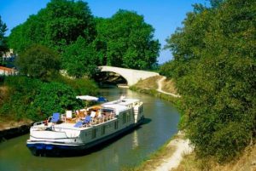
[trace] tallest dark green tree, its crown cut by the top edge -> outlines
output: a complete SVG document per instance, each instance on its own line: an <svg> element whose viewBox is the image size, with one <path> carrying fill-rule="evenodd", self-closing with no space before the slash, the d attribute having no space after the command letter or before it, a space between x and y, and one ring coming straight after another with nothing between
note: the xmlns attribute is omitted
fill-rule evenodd
<svg viewBox="0 0 256 171"><path fill-rule="evenodd" d="M84 37L88 43L95 38L95 23L87 3L83 1L52 0L45 9L47 19L46 38L49 45L63 50Z"/></svg>

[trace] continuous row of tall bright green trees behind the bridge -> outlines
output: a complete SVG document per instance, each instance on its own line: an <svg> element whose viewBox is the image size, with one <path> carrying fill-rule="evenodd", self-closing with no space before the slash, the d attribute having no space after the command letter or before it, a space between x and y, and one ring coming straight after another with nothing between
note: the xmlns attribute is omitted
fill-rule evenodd
<svg viewBox="0 0 256 171"><path fill-rule="evenodd" d="M160 51L142 15L119 10L108 19L94 18L87 3L71 0L51 0L9 35L19 54L33 44L59 52L62 69L73 77L94 76L102 65L151 69Z"/></svg>

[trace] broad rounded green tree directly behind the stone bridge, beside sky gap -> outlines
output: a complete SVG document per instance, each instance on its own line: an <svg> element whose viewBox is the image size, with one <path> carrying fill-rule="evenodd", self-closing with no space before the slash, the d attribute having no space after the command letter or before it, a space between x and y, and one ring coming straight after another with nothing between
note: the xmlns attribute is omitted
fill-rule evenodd
<svg viewBox="0 0 256 171"><path fill-rule="evenodd" d="M96 20L94 42L102 65L149 69L159 55L154 28L135 12L119 10L110 19Z"/></svg>

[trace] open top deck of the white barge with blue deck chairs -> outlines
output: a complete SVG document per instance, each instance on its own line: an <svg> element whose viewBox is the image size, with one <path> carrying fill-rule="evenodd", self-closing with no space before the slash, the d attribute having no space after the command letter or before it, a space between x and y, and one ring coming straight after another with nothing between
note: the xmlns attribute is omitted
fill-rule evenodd
<svg viewBox="0 0 256 171"><path fill-rule="evenodd" d="M127 111L137 105L142 105L142 102L140 100L126 98L122 100L114 100L103 103L102 105L93 105L86 109L66 111L66 114L61 114L56 123L52 123L52 118L49 117L44 122L34 123L33 127L35 129L38 128L38 130L44 130L44 128L71 128L79 130L91 128L102 123L116 120L120 112Z"/></svg>

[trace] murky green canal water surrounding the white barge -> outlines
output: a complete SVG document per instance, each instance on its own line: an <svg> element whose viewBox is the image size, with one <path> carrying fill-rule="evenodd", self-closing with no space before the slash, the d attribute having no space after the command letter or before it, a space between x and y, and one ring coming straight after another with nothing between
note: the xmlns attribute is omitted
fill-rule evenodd
<svg viewBox="0 0 256 171"><path fill-rule="evenodd" d="M0 171L119 171L147 160L177 133L179 114L171 103L125 88L101 91L108 100L121 94L143 100L143 125L82 157L34 157L26 148L28 134L7 140L0 144Z"/></svg>

